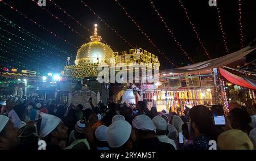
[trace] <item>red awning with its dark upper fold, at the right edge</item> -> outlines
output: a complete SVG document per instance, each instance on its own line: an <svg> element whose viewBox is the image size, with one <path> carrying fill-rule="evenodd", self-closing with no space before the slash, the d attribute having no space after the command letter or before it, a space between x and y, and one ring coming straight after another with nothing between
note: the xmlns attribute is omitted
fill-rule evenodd
<svg viewBox="0 0 256 161"><path fill-rule="evenodd" d="M230 73L229 71L220 67L221 75L226 78L229 82L237 84L238 86L249 88L251 90L256 90L256 81L245 76L238 76L236 74Z"/></svg>

